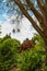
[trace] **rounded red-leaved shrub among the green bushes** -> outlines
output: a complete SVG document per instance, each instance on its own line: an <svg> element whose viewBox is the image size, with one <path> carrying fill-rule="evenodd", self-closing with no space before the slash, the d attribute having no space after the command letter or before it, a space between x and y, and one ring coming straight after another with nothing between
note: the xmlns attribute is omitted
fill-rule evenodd
<svg viewBox="0 0 47 71"><path fill-rule="evenodd" d="M27 39L27 40L25 40L25 42L21 45L20 51L26 50L26 49L33 48L33 47L34 47L33 42Z"/></svg>

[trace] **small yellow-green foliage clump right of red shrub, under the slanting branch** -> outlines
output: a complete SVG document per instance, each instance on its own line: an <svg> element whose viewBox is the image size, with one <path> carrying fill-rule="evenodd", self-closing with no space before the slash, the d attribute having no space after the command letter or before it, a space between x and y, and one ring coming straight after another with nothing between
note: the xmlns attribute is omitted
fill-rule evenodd
<svg viewBox="0 0 47 71"><path fill-rule="evenodd" d="M35 35L34 35L34 37L32 38L32 42L33 42L35 45L45 46L44 39L43 39L42 36L38 35L38 34L35 34Z"/></svg>

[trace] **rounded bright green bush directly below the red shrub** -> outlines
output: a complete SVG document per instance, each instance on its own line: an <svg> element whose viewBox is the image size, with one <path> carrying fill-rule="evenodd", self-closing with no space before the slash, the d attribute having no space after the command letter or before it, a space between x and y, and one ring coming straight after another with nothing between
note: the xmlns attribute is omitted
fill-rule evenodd
<svg viewBox="0 0 47 71"><path fill-rule="evenodd" d="M22 71L38 71L43 64L45 56L35 49L21 52L17 58L17 68Z"/></svg>

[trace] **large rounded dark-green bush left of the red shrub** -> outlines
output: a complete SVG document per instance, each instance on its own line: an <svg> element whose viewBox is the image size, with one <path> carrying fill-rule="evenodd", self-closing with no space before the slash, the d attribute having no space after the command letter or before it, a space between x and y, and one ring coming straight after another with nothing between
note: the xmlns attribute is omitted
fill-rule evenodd
<svg viewBox="0 0 47 71"><path fill-rule="evenodd" d="M8 71L12 66L16 66L20 42L8 38L0 44L0 71Z"/></svg>

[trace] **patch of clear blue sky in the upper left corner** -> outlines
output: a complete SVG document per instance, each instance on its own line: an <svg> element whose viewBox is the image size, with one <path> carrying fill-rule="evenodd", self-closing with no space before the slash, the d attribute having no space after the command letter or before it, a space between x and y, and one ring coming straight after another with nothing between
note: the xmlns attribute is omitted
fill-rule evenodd
<svg viewBox="0 0 47 71"><path fill-rule="evenodd" d="M34 2L36 0L32 0L32 1ZM5 2L5 0L3 0L3 2ZM0 2L0 22L1 23L5 22L7 21L5 16L8 16L9 14L11 15L12 13L13 13L13 11L10 10L10 8L5 7L4 3ZM32 12L30 12L30 14L32 14ZM5 15L5 16L3 16L3 15Z"/></svg>

